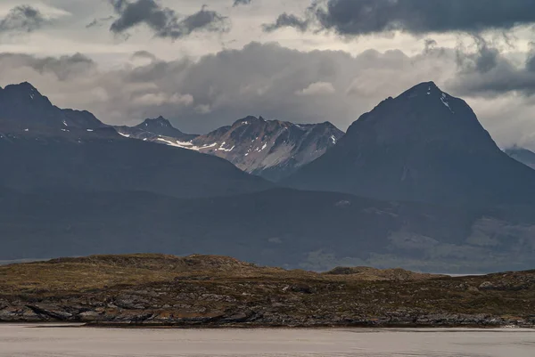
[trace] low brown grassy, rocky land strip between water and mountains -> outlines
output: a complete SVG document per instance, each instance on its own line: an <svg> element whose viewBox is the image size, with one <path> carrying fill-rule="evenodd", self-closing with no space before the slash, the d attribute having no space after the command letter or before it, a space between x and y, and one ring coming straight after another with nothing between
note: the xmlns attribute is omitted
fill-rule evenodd
<svg viewBox="0 0 535 357"><path fill-rule="evenodd" d="M93 258L0 267L0 322L535 328L535 271L460 278L402 271L337 275L260 268L231 258L187 259Z"/></svg>

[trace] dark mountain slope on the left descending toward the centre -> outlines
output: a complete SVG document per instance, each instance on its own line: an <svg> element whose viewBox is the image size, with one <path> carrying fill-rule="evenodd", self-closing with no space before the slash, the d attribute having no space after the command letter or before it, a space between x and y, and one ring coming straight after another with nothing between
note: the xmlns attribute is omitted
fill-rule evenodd
<svg viewBox="0 0 535 357"><path fill-rule="evenodd" d="M88 112L60 110L29 84L0 91L0 186L208 197L271 187L221 158L128 140Z"/></svg>

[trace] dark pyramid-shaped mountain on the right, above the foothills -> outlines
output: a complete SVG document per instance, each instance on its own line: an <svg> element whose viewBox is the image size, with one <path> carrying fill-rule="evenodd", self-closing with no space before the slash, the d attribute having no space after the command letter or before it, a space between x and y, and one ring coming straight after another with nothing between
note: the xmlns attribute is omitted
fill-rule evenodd
<svg viewBox="0 0 535 357"><path fill-rule="evenodd" d="M465 101L433 83L381 102L284 183L439 204L535 201L535 172L498 149Z"/></svg>

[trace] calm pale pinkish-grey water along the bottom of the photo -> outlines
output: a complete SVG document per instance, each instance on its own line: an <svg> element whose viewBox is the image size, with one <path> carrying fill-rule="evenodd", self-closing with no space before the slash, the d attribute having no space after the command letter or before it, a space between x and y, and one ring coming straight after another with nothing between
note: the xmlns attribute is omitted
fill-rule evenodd
<svg viewBox="0 0 535 357"><path fill-rule="evenodd" d="M525 329L86 329L0 325L0 356L533 357Z"/></svg>

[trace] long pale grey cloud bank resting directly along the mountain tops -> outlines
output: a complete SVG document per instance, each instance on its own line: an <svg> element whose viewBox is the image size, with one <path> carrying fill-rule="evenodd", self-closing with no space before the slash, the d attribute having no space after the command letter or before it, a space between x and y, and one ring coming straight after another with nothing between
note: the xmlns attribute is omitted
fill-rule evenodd
<svg viewBox="0 0 535 357"><path fill-rule="evenodd" d="M523 134L535 133L535 123L525 120L525 113L535 106L529 97L488 100L481 91L481 86L494 82L516 88L529 84L529 79L520 76L525 69L516 69L503 54L487 72L478 71L475 65L457 69L454 48L428 45L427 52L415 56L399 50L369 50L351 56L251 43L196 61L142 61L123 69L101 69L79 55L78 61L0 55L0 85L28 80L58 105L90 110L111 124L135 125L142 118L163 115L186 132L205 133L250 114L297 123L330 120L345 129L384 98L433 80L474 104L498 142L520 142ZM477 53L477 48L473 51ZM62 80L66 77L69 80ZM511 77L512 82L505 81Z"/></svg>

